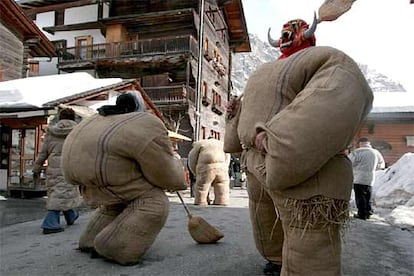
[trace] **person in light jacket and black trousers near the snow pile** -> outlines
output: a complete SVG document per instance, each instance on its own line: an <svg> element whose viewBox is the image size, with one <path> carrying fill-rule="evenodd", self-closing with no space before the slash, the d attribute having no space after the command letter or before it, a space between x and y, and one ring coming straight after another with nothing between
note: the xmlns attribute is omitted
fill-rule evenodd
<svg viewBox="0 0 414 276"><path fill-rule="evenodd" d="M354 194L358 219L369 219L372 210L372 185L375 182L375 171L384 169L385 162L381 152L371 146L367 137L359 139L359 147L348 157L352 162L354 174Z"/></svg>

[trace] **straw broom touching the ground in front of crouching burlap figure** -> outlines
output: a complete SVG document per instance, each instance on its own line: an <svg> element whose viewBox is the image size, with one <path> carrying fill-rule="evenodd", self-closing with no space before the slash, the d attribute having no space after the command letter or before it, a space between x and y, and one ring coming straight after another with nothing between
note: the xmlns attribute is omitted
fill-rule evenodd
<svg viewBox="0 0 414 276"><path fill-rule="evenodd" d="M194 216L185 204L181 194L176 192L184 206L188 216L188 232L197 243L215 243L224 237L224 234L205 221L203 218Z"/></svg>

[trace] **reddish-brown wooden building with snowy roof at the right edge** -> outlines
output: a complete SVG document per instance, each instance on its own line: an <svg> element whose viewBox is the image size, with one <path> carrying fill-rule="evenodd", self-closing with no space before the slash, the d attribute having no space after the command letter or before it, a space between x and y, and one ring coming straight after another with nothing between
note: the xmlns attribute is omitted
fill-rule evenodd
<svg viewBox="0 0 414 276"><path fill-rule="evenodd" d="M414 96L409 92L377 92L374 108L354 139L368 137L388 166L407 152L414 152ZM381 101L381 102L380 102Z"/></svg>

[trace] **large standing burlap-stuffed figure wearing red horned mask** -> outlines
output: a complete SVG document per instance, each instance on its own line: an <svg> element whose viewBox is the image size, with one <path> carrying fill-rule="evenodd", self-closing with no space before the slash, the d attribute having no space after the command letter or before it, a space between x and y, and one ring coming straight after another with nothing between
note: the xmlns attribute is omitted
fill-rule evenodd
<svg viewBox="0 0 414 276"><path fill-rule="evenodd" d="M350 57L314 46L314 30L298 19L279 40L269 36L281 58L259 67L242 100L227 107L224 150L242 152L267 275L341 275L340 231L352 189L344 149L373 95Z"/></svg>

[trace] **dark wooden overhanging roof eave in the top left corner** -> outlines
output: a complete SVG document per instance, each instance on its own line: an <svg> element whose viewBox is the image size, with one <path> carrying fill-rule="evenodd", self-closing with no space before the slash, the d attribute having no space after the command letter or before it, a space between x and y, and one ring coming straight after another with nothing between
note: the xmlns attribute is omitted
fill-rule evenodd
<svg viewBox="0 0 414 276"><path fill-rule="evenodd" d="M0 20L23 42L30 43L32 57L53 57L55 47L14 0L0 1Z"/></svg>

